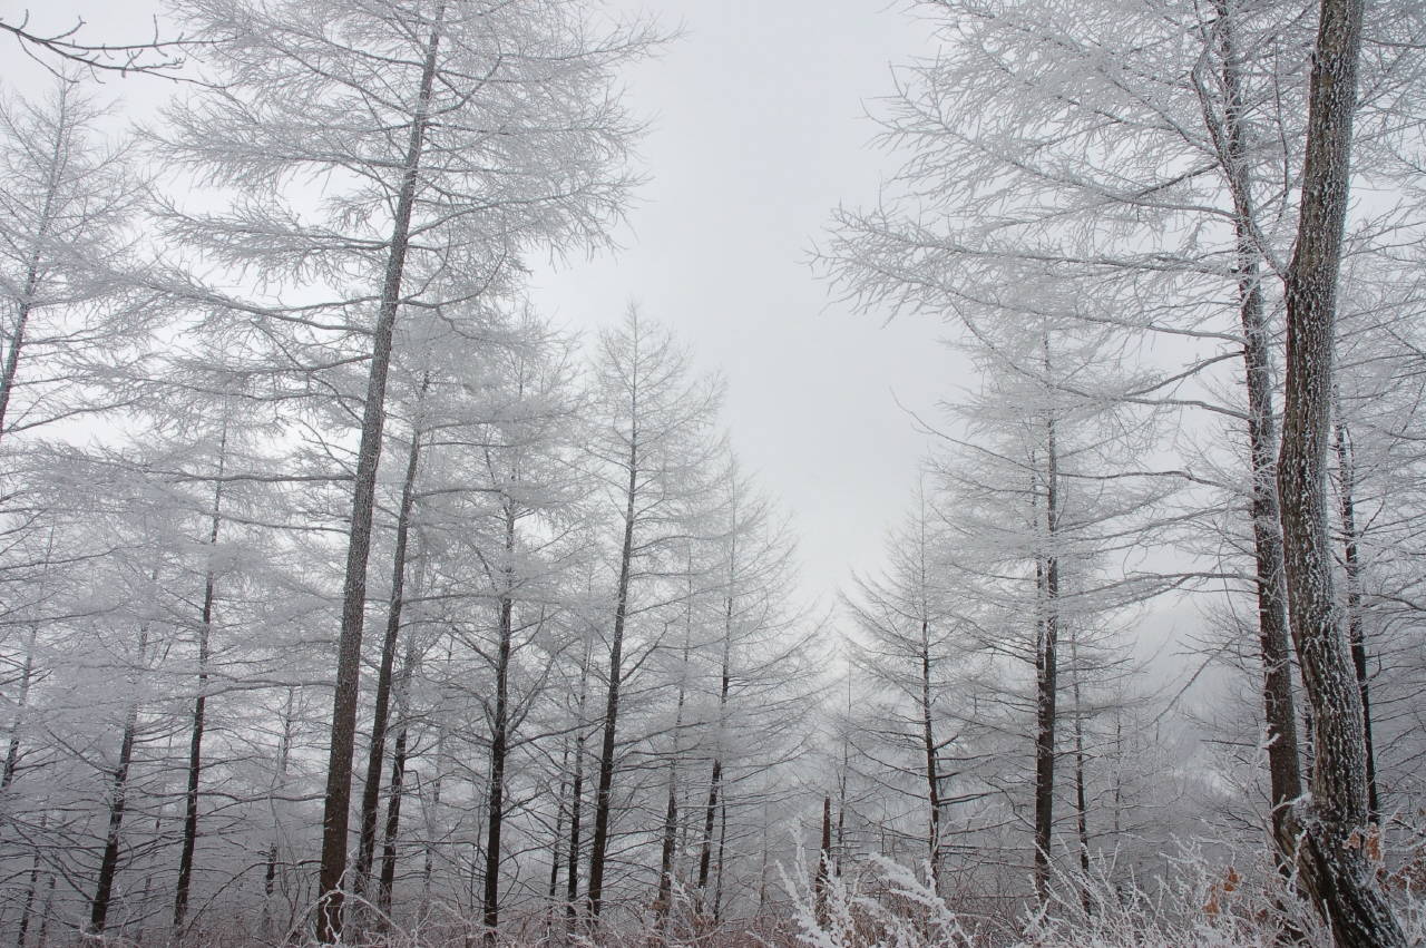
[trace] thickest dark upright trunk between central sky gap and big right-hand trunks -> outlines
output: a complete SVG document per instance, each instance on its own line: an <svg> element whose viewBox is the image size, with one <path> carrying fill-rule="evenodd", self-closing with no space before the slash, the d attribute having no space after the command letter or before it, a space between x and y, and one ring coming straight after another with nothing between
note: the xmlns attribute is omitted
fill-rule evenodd
<svg viewBox="0 0 1426 948"><path fill-rule="evenodd" d="M1045 369L1050 369L1050 339L1045 338ZM1045 542L1048 549L1035 565L1044 596L1040 620L1040 643L1035 650L1035 892L1040 901L1048 898L1050 845L1054 833L1055 805L1055 699L1058 696L1060 617L1060 560L1055 533L1060 519L1060 458L1055 445L1055 421L1045 425Z"/></svg>

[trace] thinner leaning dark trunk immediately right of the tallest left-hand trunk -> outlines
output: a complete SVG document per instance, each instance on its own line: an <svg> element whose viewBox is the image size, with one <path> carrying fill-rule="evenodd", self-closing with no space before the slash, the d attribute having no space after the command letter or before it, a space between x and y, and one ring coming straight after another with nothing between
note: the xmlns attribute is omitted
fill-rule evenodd
<svg viewBox="0 0 1426 948"><path fill-rule="evenodd" d="M425 395L431 376L421 383ZM411 510L416 499L416 469L421 463L421 422L411 431L411 450L406 453L406 478L401 485L401 509L396 513L396 549L391 567L391 600L386 606L386 637L381 643L381 666L376 671L376 709L371 724L371 748L366 754L366 783L361 794L361 835L356 845L355 887L362 891L371 875L376 854L376 810L381 803L381 766L386 758L386 720L391 713L391 676L396 664L396 642L401 636L401 610L406 592L406 542L411 535Z"/></svg>

